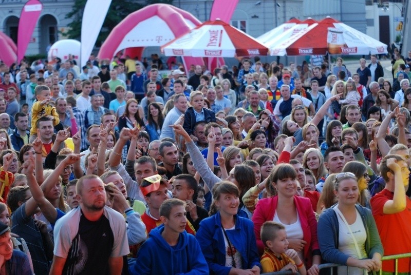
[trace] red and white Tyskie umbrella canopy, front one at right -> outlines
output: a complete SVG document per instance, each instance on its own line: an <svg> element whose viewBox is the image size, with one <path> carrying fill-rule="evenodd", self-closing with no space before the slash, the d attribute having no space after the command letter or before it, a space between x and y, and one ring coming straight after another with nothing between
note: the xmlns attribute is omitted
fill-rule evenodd
<svg viewBox="0 0 411 275"><path fill-rule="evenodd" d="M270 44L271 55L384 54L387 45L331 17L320 22L302 22L301 30L292 29ZM311 23L311 24L310 24ZM294 26L294 28L296 28Z"/></svg>

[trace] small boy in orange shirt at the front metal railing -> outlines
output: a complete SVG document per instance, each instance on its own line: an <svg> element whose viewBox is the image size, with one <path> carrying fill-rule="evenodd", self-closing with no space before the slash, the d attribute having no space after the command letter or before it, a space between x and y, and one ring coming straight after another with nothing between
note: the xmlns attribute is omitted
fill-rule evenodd
<svg viewBox="0 0 411 275"><path fill-rule="evenodd" d="M265 245L260 261L263 273L291 270L302 275L307 274L298 253L294 249L288 249L287 233L282 224L265 222L260 234Z"/></svg>

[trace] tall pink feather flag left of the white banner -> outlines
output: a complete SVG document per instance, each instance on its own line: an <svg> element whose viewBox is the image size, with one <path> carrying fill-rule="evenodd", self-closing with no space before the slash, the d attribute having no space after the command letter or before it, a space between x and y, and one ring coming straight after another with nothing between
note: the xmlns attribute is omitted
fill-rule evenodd
<svg viewBox="0 0 411 275"><path fill-rule="evenodd" d="M20 22L18 22L17 32L17 62L23 59L26 54L27 47L31 40L34 27L43 10L43 5L38 0L30 0L24 5L20 14Z"/></svg>

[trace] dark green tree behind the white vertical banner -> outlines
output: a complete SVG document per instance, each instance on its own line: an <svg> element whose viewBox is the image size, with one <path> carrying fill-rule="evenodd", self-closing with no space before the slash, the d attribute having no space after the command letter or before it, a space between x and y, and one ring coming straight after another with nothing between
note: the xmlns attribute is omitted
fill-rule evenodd
<svg viewBox="0 0 411 275"><path fill-rule="evenodd" d="M66 18L72 19L72 22L68 24L68 30L63 33L63 35L68 38L80 40L81 23L86 2L87 0L76 0L72 11L66 14ZM173 4L173 0L112 0L106 18L104 19L103 27L97 38L96 46L101 46L111 30L113 30L114 27L116 27L128 14L145 6L157 3ZM98 10L96 10L96 12L98 12Z"/></svg>

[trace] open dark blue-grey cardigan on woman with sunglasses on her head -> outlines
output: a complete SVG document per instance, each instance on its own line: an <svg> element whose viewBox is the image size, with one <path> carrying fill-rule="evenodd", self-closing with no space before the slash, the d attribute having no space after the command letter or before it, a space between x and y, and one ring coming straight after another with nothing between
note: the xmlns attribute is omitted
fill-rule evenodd
<svg viewBox="0 0 411 275"><path fill-rule="evenodd" d="M338 250L339 226L337 213L331 208L325 209L321 213L317 226L317 237L320 245L323 260L329 263L346 265L350 257ZM371 211L361 205L356 205L361 215L367 239L365 240L365 251L367 256L372 258L374 253L380 253L383 256L384 250L381 244L380 235L378 234L376 222L372 217Z"/></svg>

